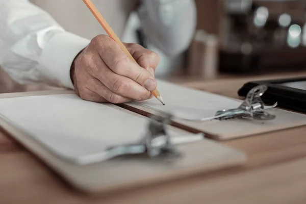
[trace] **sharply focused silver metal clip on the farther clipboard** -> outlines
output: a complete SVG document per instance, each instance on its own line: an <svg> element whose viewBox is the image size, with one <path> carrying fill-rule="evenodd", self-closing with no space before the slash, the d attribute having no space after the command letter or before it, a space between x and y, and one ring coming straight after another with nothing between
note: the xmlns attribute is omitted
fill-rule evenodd
<svg viewBox="0 0 306 204"><path fill-rule="evenodd" d="M266 92L268 87L260 85L252 88L246 95L243 103L236 109L228 109L217 111L216 116L219 120L227 120L233 118L252 118L255 120L272 120L276 116L265 110L277 106L277 102L273 106L265 106L261 96Z"/></svg>

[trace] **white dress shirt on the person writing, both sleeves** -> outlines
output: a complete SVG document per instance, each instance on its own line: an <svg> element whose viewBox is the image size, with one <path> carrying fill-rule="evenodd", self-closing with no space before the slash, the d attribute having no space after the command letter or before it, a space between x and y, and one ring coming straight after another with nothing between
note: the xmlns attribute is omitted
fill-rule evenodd
<svg viewBox="0 0 306 204"><path fill-rule="evenodd" d="M148 39L169 55L183 52L196 24L193 0L144 0L143 5L140 15ZM154 15L156 12L159 15ZM0 65L20 84L45 83L73 89L71 63L89 42L65 31L28 0L0 0Z"/></svg>

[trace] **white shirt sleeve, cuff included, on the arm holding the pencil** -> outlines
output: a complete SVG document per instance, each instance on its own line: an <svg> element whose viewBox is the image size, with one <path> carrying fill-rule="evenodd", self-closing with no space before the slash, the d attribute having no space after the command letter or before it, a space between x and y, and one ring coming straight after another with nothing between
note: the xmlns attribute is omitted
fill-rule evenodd
<svg viewBox="0 0 306 204"><path fill-rule="evenodd" d="M21 84L73 89L71 63L89 42L28 0L0 0L0 65Z"/></svg>

